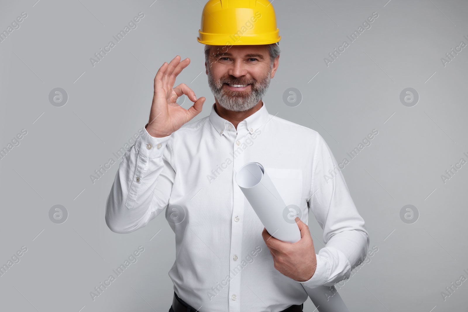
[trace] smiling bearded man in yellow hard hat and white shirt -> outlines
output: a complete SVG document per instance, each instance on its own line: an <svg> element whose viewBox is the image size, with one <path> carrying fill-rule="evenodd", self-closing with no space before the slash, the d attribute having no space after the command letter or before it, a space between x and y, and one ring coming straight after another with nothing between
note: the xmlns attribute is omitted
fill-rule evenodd
<svg viewBox="0 0 468 312"><path fill-rule="evenodd" d="M323 138L267 112L262 97L278 69L280 37L270 3L250 1L257 4L253 11L239 10L245 2L210 0L205 6L198 38L205 44L215 42L204 40L215 31L233 33L213 21L210 28L208 15L222 18L223 27L255 11L263 18L229 47L205 46L215 97L210 115L186 124L202 111L205 97L185 84L174 87L189 58L164 62L154 78L146 130L125 153L106 203L106 223L117 233L133 232L166 210L176 236L169 312L302 311L304 287L348 278L369 246L341 172L331 181L323 178L337 166ZM194 102L189 109L176 103L183 94ZM251 161L265 167L286 205L298 207L292 214L298 215L298 242L272 237L236 184L237 171ZM324 230L326 246L318 254L309 211Z"/></svg>

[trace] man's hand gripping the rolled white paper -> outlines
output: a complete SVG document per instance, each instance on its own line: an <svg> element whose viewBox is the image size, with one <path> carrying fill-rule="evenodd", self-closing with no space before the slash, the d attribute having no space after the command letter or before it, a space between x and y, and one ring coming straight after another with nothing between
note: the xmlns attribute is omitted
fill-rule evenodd
<svg viewBox="0 0 468 312"><path fill-rule="evenodd" d="M295 218L300 230L300 240L287 243L274 238L263 228L262 237L273 256L275 268L296 281L308 281L315 273L317 258L309 227L299 217Z"/></svg>

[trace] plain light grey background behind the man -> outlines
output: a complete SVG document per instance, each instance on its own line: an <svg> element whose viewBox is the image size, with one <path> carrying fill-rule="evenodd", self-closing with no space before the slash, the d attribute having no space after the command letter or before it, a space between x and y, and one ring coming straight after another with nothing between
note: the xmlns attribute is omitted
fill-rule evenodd
<svg viewBox="0 0 468 312"><path fill-rule="evenodd" d="M176 85L207 98L197 118L210 113L214 99L196 40L205 1L36 1L0 2L0 30L28 14L0 43L0 147L28 131L0 160L0 264L28 248L0 277L1 310L168 311L175 241L167 221L111 232L105 203L120 160L94 184L89 176L146 124L154 75L177 54L191 63ZM445 301L441 292L468 277L468 165L445 184L441 174L468 160L468 47L445 67L440 58L468 44L467 1L273 5L282 53L264 98L268 111L318 131L338 162L379 131L342 171L370 248L379 248L339 290L350 311L466 309L468 282ZM138 28L93 67L89 58L140 11ZM328 53L373 12L379 17L371 29L327 67ZM56 87L68 94L63 107L48 100ZM302 94L297 107L282 101L289 87ZM407 87L419 94L416 106L399 100ZM49 219L57 204L68 211L65 223ZM407 204L419 211L416 223L400 218ZM322 231L312 214L309 226L318 250ZM93 301L90 291L139 246L138 261ZM304 311L313 310L308 299Z"/></svg>

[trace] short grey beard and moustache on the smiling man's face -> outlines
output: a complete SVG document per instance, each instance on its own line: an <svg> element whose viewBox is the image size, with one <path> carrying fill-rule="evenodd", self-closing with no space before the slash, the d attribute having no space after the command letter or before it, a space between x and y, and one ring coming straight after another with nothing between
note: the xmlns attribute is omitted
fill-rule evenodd
<svg viewBox="0 0 468 312"><path fill-rule="evenodd" d="M222 108L236 112L246 111L255 107L255 105L260 102L260 100L263 98L263 95L265 95L266 91L268 90L268 87L270 86L270 73L272 67L273 66L270 66L270 72L268 72L267 75L259 82L256 80L230 80L229 78L221 78L220 80L215 81L210 72L210 68L207 67L208 85L210 86L212 94L216 100L218 100L218 103ZM225 82L239 85L252 83L250 86L251 91L246 93L246 91L227 90L224 87Z"/></svg>

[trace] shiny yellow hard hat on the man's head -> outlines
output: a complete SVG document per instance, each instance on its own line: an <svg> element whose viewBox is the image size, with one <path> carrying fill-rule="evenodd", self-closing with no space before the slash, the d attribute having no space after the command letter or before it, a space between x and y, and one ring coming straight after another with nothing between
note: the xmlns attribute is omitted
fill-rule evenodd
<svg viewBox="0 0 468 312"><path fill-rule="evenodd" d="M274 44L281 36L268 0L209 0L197 41L210 45Z"/></svg>

